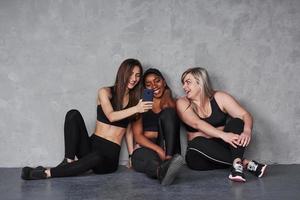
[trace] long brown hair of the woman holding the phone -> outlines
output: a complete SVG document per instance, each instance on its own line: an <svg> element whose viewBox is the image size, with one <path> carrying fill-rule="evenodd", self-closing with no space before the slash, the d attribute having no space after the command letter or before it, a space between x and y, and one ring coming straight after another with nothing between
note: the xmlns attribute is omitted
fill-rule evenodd
<svg viewBox="0 0 300 200"><path fill-rule="evenodd" d="M122 110L123 109L123 98L125 96L125 92L127 89L127 85L129 82L129 78L131 76L132 70L134 67L140 68L141 75L143 74L143 68L137 59L129 58L124 60L117 72L116 81L113 86L113 94L112 94L112 103L114 110ZM129 102L127 107L134 106L138 103L141 97L141 81L129 90Z"/></svg>

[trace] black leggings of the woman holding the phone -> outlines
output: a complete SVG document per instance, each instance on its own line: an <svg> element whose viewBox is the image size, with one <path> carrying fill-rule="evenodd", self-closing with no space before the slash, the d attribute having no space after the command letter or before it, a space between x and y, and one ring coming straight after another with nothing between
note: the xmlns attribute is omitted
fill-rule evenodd
<svg viewBox="0 0 300 200"><path fill-rule="evenodd" d="M78 110L70 110L65 118L65 157L77 161L50 169L51 177L75 176L90 169L96 174L112 173L119 164L120 145L95 134L88 136Z"/></svg>

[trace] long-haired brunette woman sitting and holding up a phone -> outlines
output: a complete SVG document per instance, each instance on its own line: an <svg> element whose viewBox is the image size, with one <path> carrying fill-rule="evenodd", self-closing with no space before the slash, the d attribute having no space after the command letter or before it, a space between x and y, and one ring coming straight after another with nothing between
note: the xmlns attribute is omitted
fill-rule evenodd
<svg viewBox="0 0 300 200"><path fill-rule="evenodd" d="M123 61L114 86L101 88L98 92L95 133L89 137L80 112L70 110L64 125L63 162L50 169L24 167L21 177L34 180L75 176L88 170L96 174L115 172L119 163L120 144L130 117L152 107L152 102L139 101L141 74L142 66L138 60Z"/></svg>

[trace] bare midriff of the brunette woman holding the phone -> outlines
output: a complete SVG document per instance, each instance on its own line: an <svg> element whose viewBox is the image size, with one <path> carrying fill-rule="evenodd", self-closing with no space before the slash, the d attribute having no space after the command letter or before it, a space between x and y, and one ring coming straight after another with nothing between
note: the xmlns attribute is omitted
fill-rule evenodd
<svg viewBox="0 0 300 200"><path fill-rule="evenodd" d="M97 120L95 135L121 145L126 128L102 123Z"/></svg>

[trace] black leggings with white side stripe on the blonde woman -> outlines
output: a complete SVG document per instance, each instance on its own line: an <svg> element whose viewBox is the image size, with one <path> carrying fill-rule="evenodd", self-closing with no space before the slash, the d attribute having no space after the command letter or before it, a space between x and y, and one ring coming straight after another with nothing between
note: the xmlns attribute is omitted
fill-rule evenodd
<svg viewBox="0 0 300 200"><path fill-rule="evenodd" d="M244 122L239 118L231 119L224 127L224 132L241 134ZM194 170L212 170L228 168L236 158L243 158L245 147L232 147L222 139L196 137L189 141L186 152L187 166Z"/></svg>

